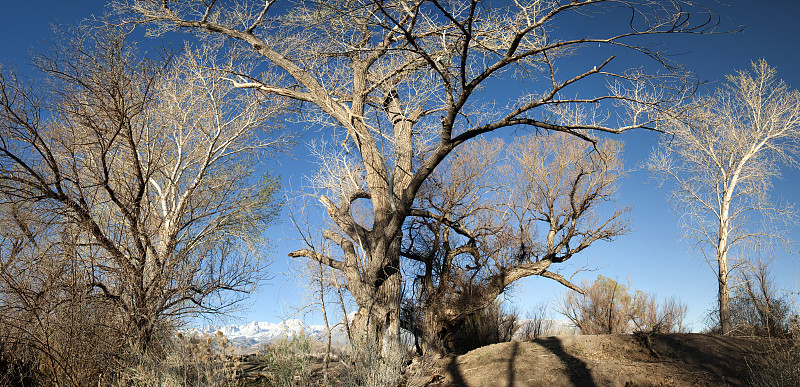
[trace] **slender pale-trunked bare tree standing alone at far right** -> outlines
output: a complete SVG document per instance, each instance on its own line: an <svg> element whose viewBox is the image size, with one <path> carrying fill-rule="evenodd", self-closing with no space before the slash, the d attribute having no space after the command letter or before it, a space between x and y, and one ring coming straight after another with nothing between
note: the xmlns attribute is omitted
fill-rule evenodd
<svg viewBox="0 0 800 387"><path fill-rule="evenodd" d="M768 200L771 180L800 154L800 93L775 78L766 61L752 72L728 76L728 84L696 101L694 118L672 121L648 167L673 182L671 200L682 213L684 234L714 270L723 334L731 324L731 263L745 260L737 247L753 238L779 236L753 226L792 217L791 207ZM758 219L757 217L761 217Z"/></svg>

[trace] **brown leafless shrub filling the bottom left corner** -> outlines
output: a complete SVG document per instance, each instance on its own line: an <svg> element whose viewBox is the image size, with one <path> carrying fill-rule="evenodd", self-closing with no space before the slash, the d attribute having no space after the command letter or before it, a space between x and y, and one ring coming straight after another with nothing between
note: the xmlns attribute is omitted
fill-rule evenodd
<svg viewBox="0 0 800 387"><path fill-rule="evenodd" d="M124 348L113 309L73 290L42 291L43 306L0 291L0 385L98 385L113 371Z"/></svg>

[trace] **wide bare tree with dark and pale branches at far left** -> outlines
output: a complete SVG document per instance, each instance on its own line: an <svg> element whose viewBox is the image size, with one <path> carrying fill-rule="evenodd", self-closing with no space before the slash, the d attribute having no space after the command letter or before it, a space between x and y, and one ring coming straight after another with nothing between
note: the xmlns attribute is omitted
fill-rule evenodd
<svg viewBox="0 0 800 387"><path fill-rule="evenodd" d="M279 184L257 161L286 144L267 125L284 105L208 70L225 66L213 47L147 59L93 28L57 47L36 59L44 90L0 77L3 205L71 232L77 247L59 259L148 350L260 280Z"/></svg>

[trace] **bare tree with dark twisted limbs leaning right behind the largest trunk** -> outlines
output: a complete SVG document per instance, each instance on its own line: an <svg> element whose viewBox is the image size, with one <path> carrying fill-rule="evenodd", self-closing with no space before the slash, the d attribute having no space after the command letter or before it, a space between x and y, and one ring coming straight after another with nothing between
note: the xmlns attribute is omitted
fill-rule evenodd
<svg viewBox="0 0 800 387"><path fill-rule="evenodd" d="M627 209L599 210L624 174L621 150L564 133L510 145L478 140L437 168L420 189L401 251L426 349L451 350L453 329L521 278L541 276L583 293L552 265L628 231Z"/></svg>

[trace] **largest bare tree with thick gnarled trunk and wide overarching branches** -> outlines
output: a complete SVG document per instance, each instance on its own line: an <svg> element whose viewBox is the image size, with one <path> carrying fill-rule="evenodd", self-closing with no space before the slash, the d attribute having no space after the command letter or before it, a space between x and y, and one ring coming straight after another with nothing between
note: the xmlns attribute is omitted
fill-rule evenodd
<svg viewBox="0 0 800 387"><path fill-rule="evenodd" d="M671 106L686 90L686 78L637 38L703 33L715 25L712 18L692 23L680 1L274 4L119 0L114 7L122 23L147 23L152 32L199 30L230 38L231 47L260 60L259 71L273 74L240 71L236 86L302 101L301 119L330 128L326 135L337 145L324 155L330 162L325 164L341 168L319 179L326 184L319 200L334 223L323 234L341 253L299 249L291 255L344 272L361 308L357 321L394 346L400 342L402 230L437 165L461 144L502 128L540 128L588 140L592 131L655 126L645 107ZM613 15L617 11L626 17ZM559 28L608 14L624 30L571 36ZM570 59L585 61L575 72L558 71L558 60L597 45L643 53L664 65L667 76L615 69L610 51L599 60ZM532 82L508 96L494 81L514 76ZM581 95L577 85L592 78L609 81L612 92ZM497 91L503 94L499 101L493 97ZM606 121L609 115L600 109L614 102L632 107L632 119L619 126ZM353 216L359 207L370 214L366 223Z"/></svg>

